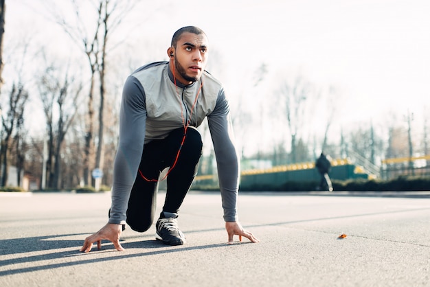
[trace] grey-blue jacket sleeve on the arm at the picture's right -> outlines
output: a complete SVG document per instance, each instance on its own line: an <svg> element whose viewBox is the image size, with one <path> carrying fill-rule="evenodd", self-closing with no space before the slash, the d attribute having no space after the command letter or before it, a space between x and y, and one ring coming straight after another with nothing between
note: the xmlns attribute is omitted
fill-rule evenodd
<svg viewBox="0 0 430 287"><path fill-rule="evenodd" d="M214 111L207 116L218 169L224 220L237 221L236 211L240 163L234 146L234 135L229 117L229 103L224 90L218 93Z"/></svg>

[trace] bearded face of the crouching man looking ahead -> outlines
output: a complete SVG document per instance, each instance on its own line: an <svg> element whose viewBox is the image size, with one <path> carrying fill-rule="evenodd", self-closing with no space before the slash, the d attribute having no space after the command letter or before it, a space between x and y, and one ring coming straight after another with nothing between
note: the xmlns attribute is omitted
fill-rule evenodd
<svg viewBox="0 0 430 287"><path fill-rule="evenodd" d="M182 84L191 84L201 77L207 62L207 38L205 34L186 32L181 35L174 50L174 65L177 79Z"/></svg>

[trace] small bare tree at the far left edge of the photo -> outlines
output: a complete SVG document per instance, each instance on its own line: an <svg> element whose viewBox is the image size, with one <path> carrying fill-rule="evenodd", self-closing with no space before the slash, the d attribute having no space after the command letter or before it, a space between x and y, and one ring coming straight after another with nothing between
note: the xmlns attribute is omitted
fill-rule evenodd
<svg viewBox="0 0 430 287"><path fill-rule="evenodd" d="M28 92L24 89L23 84L13 84L8 98L8 111L1 114L3 126L3 137L1 138L1 163L3 172L1 176L1 185L8 182L9 154L12 146L13 133L17 127L23 125L24 108L28 100Z"/></svg>

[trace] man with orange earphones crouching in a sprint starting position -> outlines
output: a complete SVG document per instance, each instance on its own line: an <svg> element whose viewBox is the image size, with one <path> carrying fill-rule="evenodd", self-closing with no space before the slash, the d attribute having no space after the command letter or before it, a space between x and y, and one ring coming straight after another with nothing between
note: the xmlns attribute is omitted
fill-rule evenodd
<svg viewBox="0 0 430 287"><path fill-rule="evenodd" d="M168 62L141 67L124 84L109 222L85 238L80 251L91 251L94 242L100 249L101 240L124 250L120 236L125 223L135 231L148 230L154 220L159 176L165 168L166 200L157 220L157 236L166 244L185 243L177 217L196 175L203 146L196 127L205 117L216 154L228 240L232 242L238 235L259 241L238 222L240 165L223 86L205 71L205 32L182 27L174 33L167 54Z"/></svg>

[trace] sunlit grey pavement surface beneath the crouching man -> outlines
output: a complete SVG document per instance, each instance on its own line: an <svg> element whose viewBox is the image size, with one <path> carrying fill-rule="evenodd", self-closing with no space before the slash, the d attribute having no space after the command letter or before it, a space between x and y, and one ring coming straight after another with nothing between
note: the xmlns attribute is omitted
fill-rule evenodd
<svg viewBox="0 0 430 287"><path fill-rule="evenodd" d="M190 192L185 245L128 227L126 251L80 253L109 192L3 193L0 286L430 286L430 197L347 195L240 193L240 222L261 242L226 244L220 194Z"/></svg>

